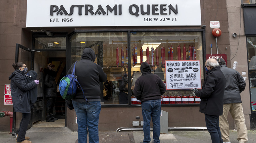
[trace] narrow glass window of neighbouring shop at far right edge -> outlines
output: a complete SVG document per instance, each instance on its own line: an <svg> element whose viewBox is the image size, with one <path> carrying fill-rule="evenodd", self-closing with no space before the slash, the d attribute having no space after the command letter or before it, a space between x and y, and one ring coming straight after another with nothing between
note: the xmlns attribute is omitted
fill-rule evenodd
<svg viewBox="0 0 256 143"><path fill-rule="evenodd" d="M247 37L252 111L256 111L256 37Z"/></svg>

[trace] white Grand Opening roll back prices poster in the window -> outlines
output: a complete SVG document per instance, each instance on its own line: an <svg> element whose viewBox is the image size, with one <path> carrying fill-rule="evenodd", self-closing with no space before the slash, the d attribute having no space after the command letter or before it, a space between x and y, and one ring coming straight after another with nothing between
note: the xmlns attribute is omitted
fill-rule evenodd
<svg viewBox="0 0 256 143"><path fill-rule="evenodd" d="M200 60L165 61L166 89L201 89Z"/></svg>

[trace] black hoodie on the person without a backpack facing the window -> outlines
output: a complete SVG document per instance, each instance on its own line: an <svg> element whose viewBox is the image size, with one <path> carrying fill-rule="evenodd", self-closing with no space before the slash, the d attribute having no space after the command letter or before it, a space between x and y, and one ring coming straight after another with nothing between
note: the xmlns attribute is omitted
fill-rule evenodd
<svg viewBox="0 0 256 143"><path fill-rule="evenodd" d="M161 99L166 87L161 78L151 73L150 65L143 62L140 66L142 75L136 80L134 87L134 96L142 102L148 100Z"/></svg>

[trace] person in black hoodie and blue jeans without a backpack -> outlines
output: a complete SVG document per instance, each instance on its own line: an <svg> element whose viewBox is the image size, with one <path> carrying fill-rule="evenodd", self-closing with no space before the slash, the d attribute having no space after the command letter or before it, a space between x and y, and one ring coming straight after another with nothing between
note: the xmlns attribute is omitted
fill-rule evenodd
<svg viewBox="0 0 256 143"><path fill-rule="evenodd" d="M142 117L143 117L143 133L144 139L140 143L150 142L150 121L153 122L153 141L152 143L160 143L160 113L161 113L161 95L165 92L166 87L162 79L151 73L151 67L147 62L143 62L140 66L142 73L137 78L134 87L134 96L141 101Z"/></svg>

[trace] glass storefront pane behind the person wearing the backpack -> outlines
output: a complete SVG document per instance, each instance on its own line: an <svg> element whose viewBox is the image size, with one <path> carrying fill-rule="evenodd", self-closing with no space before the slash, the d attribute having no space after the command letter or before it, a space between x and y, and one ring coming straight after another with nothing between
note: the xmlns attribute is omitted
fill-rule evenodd
<svg viewBox="0 0 256 143"><path fill-rule="evenodd" d="M75 33L71 47L71 63L81 59L84 48L95 51L94 62L107 74L107 81L103 83L107 95L102 95L101 103L128 104L127 33Z"/></svg>

